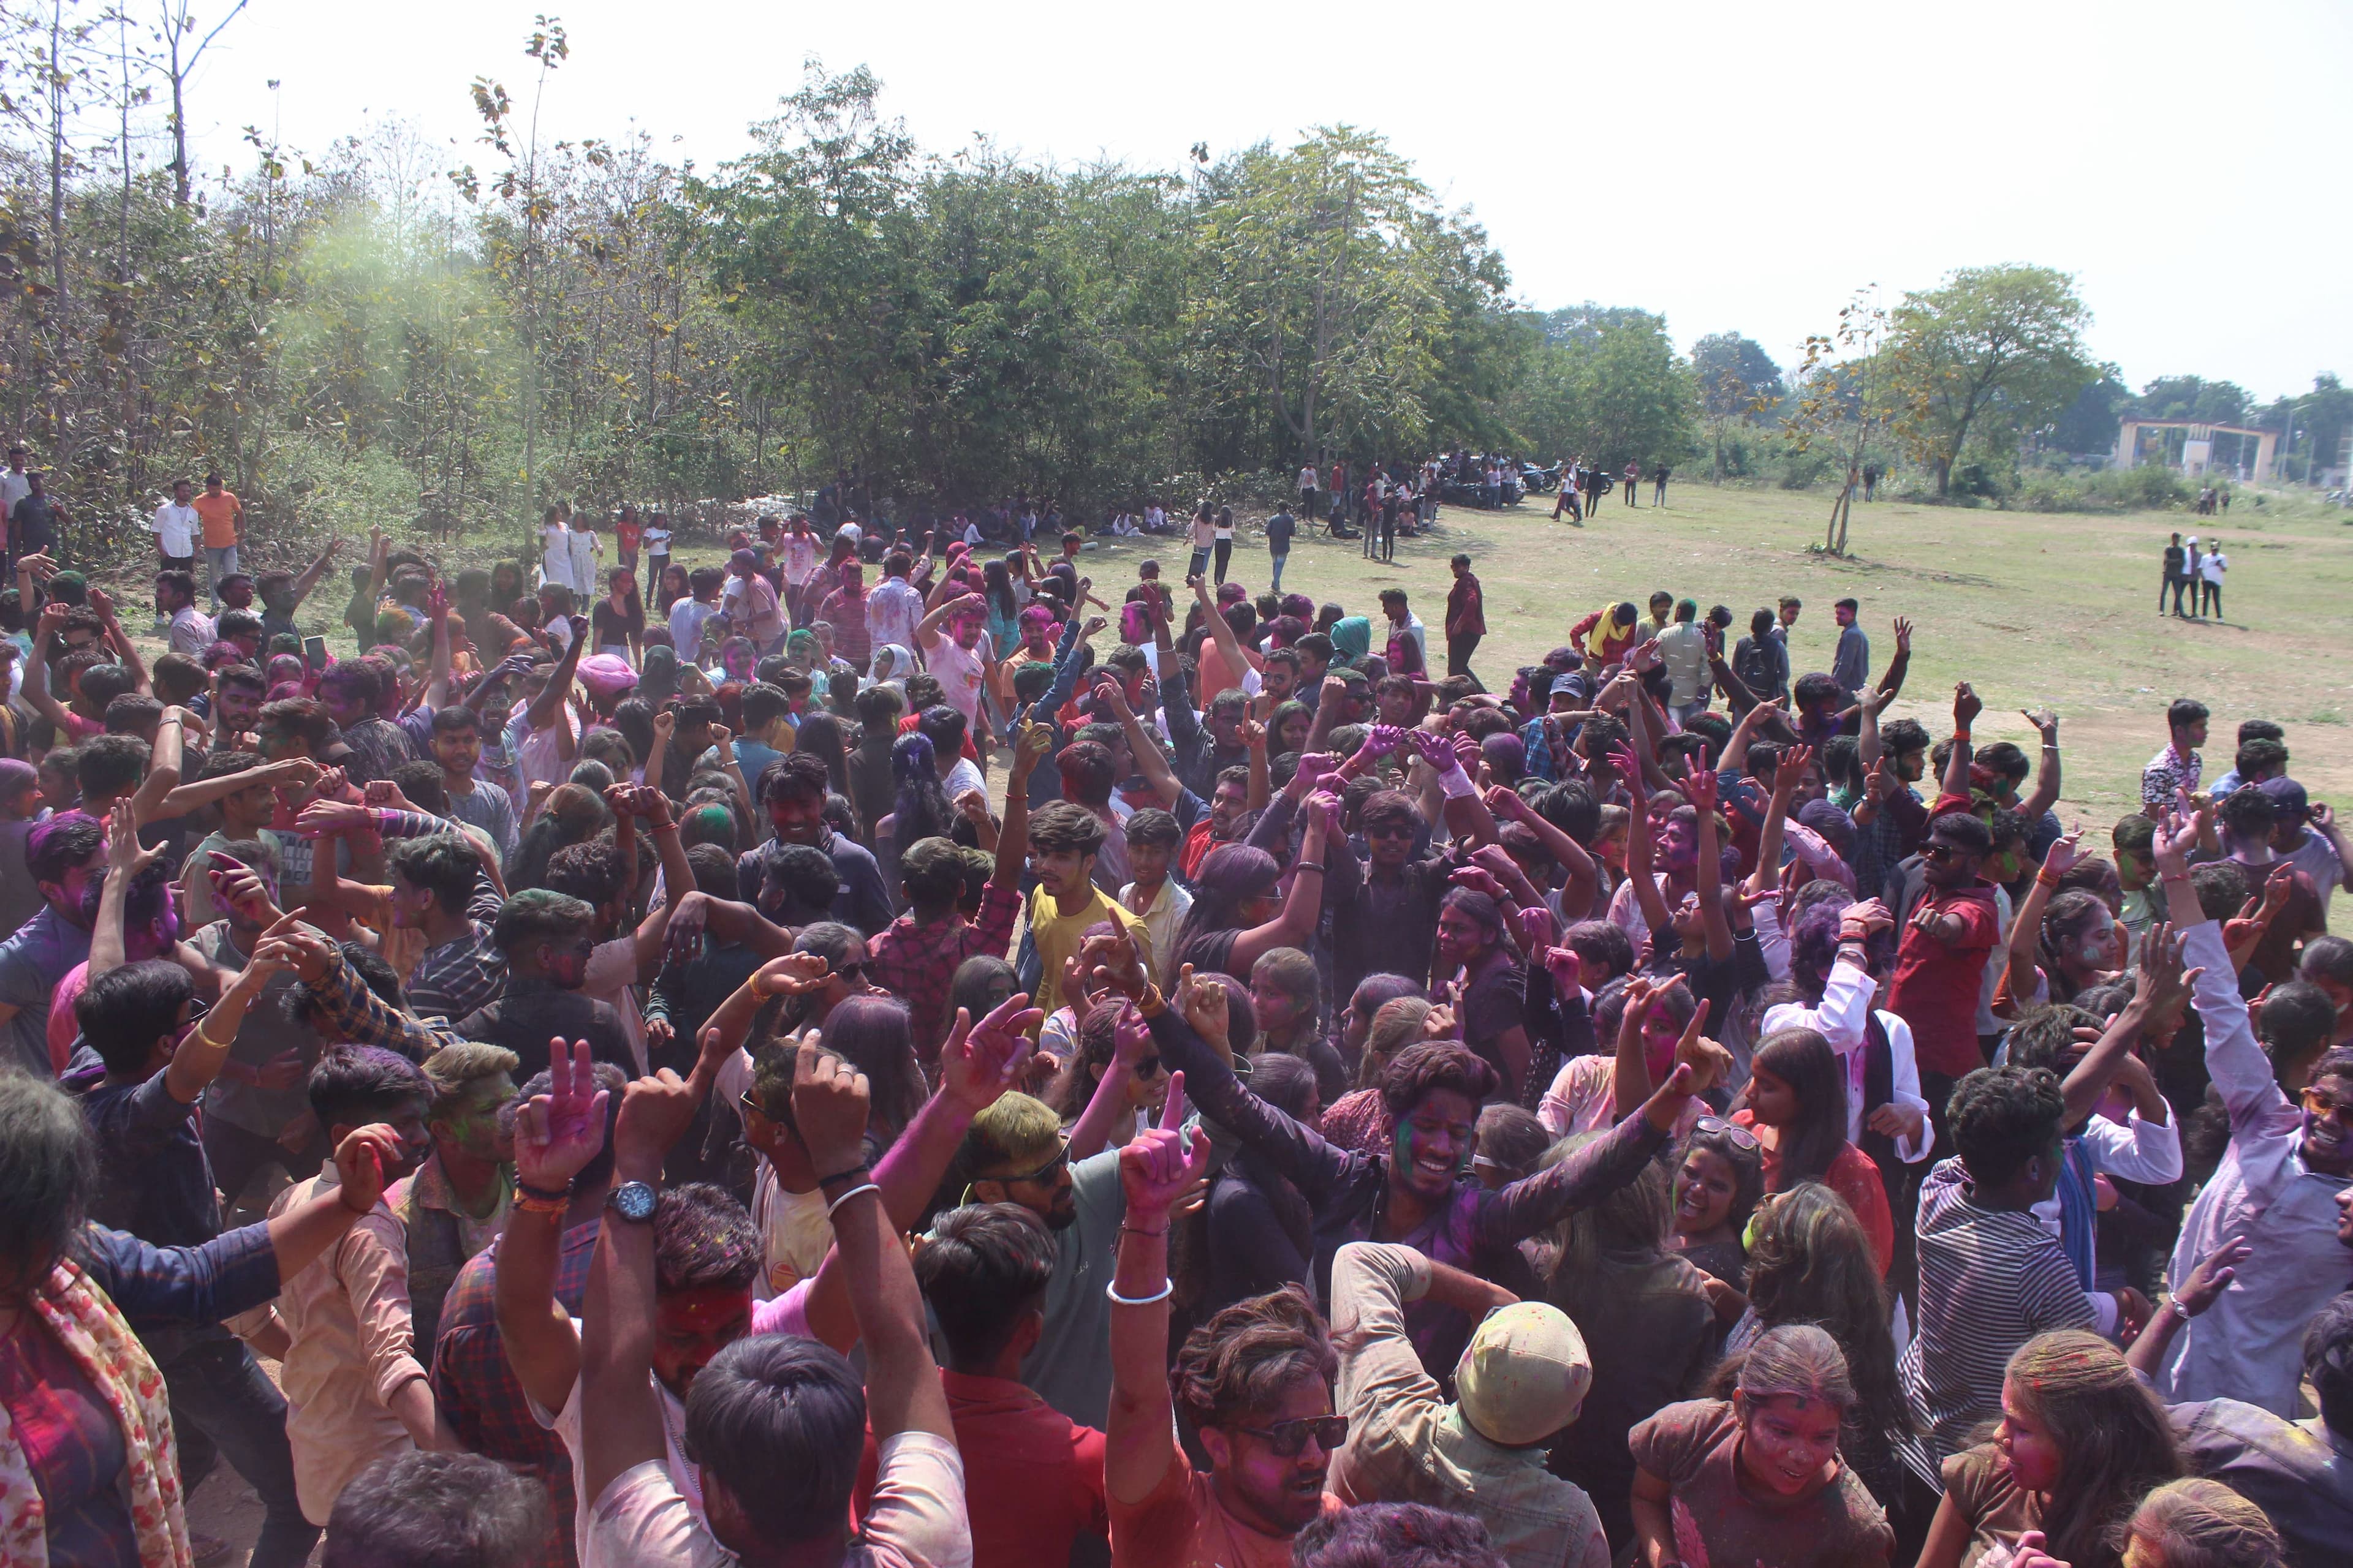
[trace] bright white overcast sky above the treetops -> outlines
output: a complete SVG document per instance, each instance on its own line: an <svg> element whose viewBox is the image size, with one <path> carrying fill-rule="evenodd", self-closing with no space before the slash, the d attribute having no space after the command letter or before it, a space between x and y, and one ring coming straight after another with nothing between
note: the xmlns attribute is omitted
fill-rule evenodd
<svg viewBox="0 0 2353 1568"><path fill-rule="evenodd" d="M539 5L574 49L544 136L640 125L708 169L805 54L868 63L927 150L988 132L1174 169L1195 141L1353 122L1487 226L1520 299L1659 310L1685 348L1746 331L1788 367L1859 284L2033 261L2075 273L2092 350L2132 386L2200 374L2268 400L2353 374L2353 7L2327 0L254 0L193 89L200 165L247 158L268 78L292 148L376 118L466 143L475 75L525 96Z"/></svg>

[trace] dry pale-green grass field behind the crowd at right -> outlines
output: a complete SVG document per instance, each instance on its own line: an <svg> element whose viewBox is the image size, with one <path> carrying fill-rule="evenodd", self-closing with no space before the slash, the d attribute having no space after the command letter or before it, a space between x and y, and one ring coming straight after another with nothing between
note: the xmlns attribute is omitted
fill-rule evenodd
<svg viewBox="0 0 2353 1568"><path fill-rule="evenodd" d="M1849 559L1809 552L1831 498L1819 491L1675 484L1668 505L1612 498L1586 527L1551 522L1553 498L1501 512L1447 508L1438 531L1398 541L1388 567L1353 541L1301 538L1282 585L1379 616L1374 595L1402 585L1431 623L1445 611L1447 557L1468 550L1487 590L1487 642L1475 668L1489 684L1565 642L1605 599L1666 588L1729 604L1737 632L1784 592L1805 599L1793 672L1826 670L1838 628L1833 599L1854 595L1871 635L1871 672L1894 654L1894 616L1913 623L1913 661L1892 715L1929 733L1951 726L1953 682L1986 701L1981 741L2035 736L2021 708L2059 712L2066 759L2061 816L2111 823L2139 802L2139 773L2165 743L2165 703L2195 696L2214 710L2207 778L2231 766L2240 719L2287 726L2292 773L2315 799L2353 804L2353 520L2315 501L2242 498L2228 517L2139 512L2031 515L1946 505L1857 505ZM2224 541L2231 571L2221 621L2160 616L2155 592L2167 534ZM1184 548L1148 541L1181 569ZM1172 548L1174 545L1174 548ZM1125 585L1144 550L1087 552L1099 583ZM1118 562L1113 567L1113 562ZM1264 583L1264 543L1238 543L1235 571ZM1113 595L1104 595L1106 599Z"/></svg>

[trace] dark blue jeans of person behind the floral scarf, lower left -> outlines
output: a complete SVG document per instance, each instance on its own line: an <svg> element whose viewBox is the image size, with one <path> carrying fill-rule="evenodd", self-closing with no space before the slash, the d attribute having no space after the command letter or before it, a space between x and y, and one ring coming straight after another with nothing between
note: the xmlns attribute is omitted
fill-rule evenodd
<svg viewBox="0 0 2353 1568"><path fill-rule="evenodd" d="M226 1458L266 1509L254 1568L301 1568L318 1544L318 1526L301 1516L294 1495L285 1394L242 1340L207 1338L158 1361L172 1394L181 1488L193 1493L214 1460Z"/></svg>

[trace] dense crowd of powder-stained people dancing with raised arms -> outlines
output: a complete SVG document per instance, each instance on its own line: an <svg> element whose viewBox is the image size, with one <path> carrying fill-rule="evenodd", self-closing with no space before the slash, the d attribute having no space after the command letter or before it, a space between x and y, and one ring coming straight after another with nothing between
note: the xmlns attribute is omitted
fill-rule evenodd
<svg viewBox="0 0 2353 1568"><path fill-rule="evenodd" d="M1468 555L1440 672L1214 512L838 512L376 536L351 658L332 550L158 531L153 661L16 550L0 1561L193 1568L221 1467L256 1568L2348 1559L2282 726L2101 844L1854 599L1489 689Z"/></svg>

